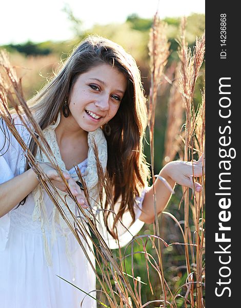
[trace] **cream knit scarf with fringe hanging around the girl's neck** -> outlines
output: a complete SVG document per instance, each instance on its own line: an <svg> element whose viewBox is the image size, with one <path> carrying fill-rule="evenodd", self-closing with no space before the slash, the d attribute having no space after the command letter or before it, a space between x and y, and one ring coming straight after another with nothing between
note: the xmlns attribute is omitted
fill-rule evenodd
<svg viewBox="0 0 241 308"><path fill-rule="evenodd" d="M44 129L43 133L44 136L50 145L50 148L53 152L54 157L56 158L57 164L62 170L66 170L65 163L63 162L61 158L61 153L59 151L59 147L57 144L56 140L56 135L55 135L55 128L58 126L59 121L61 119L61 114L58 114L57 121L53 125L48 126L46 129ZM107 165L107 142L104 136L104 133L101 128L96 129L93 132L88 133L88 145L89 145L89 151L88 151L88 166L86 169L85 174L83 175L87 188L89 191L89 196L90 196L90 205L94 209L97 209L97 204L98 204L98 175L97 175L97 166L96 166L96 160L95 160L95 155L94 155L94 150L93 150L93 142L96 143L98 147L98 158L99 161L102 164L103 170L105 172L106 170L106 165ZM41 161L41 162L48 162L47 157L45 154L37 149L37 154L36 154L36 160ZM76 178L77 180L77 175L71 175L73 178ZM58 190L59 195L65 200L66 193ZM41 221L41 229L43 233L43 239L44 239L44 246L45 246L45 256L48 265L52 264L51 260L51 254L50 254L50 247L49 243L46 238L45 234L45 227L50 225L50 222L48 221L47 218L47 209L46 205L44 202L44 188L42 187L41 184L39 184L32 192L33 194L33 199L34 199L34 210L33 210L33 221L39 220ZM57 199L59 204L62 204L61 198L59 198L55 192L55 198ZM70 207L72 213L76 213L76 204L75 202L69 197L66 199L68 206ZM65 208L63 204L63 208ZM70 221L72 221L72 217L69 214L69 211L65 211L68 215L68 218ZM88 212L86 211L87 215ZM69 250L68 250L68 240L67 240L67 234L69 233L69 229L65 221L62 219L61 215L58 213L58 210L56 210L56 207L53 205L53 213L52 213L52 222L51 222L51 245L53 244L54 240L56 239L55 235L55 226L58 224L61 229L62 229L62 234L66 238L66 253L67 256L69 256Z"/></svg>

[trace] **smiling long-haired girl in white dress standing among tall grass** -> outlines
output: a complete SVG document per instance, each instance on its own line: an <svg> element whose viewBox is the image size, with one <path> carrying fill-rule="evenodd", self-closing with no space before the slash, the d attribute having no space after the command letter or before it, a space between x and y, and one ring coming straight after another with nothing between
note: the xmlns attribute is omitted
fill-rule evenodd
<svg viewBox="0 0 241 308"><path fill-rule="evenodd" d="M144 222L153 222L153 186L147 184L149 170L143 154L146 99L139 70L130 54L106 38L87 37L53 80L29 101L29 106L72 195L83 208L87 208L87 202L76 183L73 166L81 169L94 207L98 201L94 140L99 161L113 187L117 217L132 235ZM66 191L58 172L39 151L27 129L16 115L13 119L39 161L38 167L59 191ZM90 292L95 290L95 274L3 121L0 149L1 307L79 307L82 293L56 275L74 280L75 285ZM192 163L170 162L159 176L172 188L177 182L199 192L202 186L194 183L193 187L193 173L195 177L202 176L201 159ZM170 190L160 179L154 184L158 213L170 198ZM116 234L118 218L108 226L109 233L99 227L110 248L118 246L117 237L121 245L130 240L128 232ZM87 249L87 243L83 241L83 245ZM91 253L90 259L94 264ZM96 307L96 302L87 297L83 307Z"/></svg>

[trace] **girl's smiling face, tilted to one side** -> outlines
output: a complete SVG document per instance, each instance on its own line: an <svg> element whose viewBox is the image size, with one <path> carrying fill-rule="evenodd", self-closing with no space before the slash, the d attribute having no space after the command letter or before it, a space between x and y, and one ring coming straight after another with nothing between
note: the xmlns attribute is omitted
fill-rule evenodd
<svg viewBox="0 0 241 308"><path fill-rule="evenodd" d="M85 131L96 130L114 117L126 88L125 75L111 65L91 68L79 75L74 83L68 119Z"/></svg>

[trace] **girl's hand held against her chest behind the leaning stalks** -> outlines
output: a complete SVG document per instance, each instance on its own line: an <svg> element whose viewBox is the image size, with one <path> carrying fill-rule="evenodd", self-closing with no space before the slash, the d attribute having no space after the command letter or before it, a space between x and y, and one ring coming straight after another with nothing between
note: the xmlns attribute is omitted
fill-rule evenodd
<svg viewBox="0 0 241 308"><path fill-rule="evenodd" d="M42 178L44 181L47 181L49 179L51 183L58 188L59 190L62 190L64 192L67 192L67 187L62 178L58 175L58 172L56 169L52 167L50 163L38 163L37 164L39 168L43 171L44 175ZM87 208L87 201L85 198L85 194L83 190L78 186L78 184L71 178L68 172L63 171L63 176L65 177L69 189L71 191L71 194L76 197L77 202L83 207Z"/></svg>

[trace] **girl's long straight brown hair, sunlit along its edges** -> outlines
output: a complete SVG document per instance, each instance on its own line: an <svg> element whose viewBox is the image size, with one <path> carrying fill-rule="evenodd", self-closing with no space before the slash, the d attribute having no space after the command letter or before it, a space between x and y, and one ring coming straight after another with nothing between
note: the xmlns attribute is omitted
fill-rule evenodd
<svg viewBox="0 0 241 308"><path fill-rule="evenodd" d="M56 121L58 113L67 100L77 77L92 67L107 63L122 72L128 81L127 90L113 119L108 146L107 177L113 187L114 204L121 198L121 205L111 228L114 232L118 218L128 209L134 221L134 199L147 184L149 169L143 154L143 138L147 125L147 110L140 72L133 57L121 46L104 37L88 36L69 56L59 72L28 104L42 129ZM104 130L105 132L105 130ZM36 155L37 146L33 139L29 148ZM29 166L26 164L26 170ZM106 204L107 208L109 205Z"/></svg>

